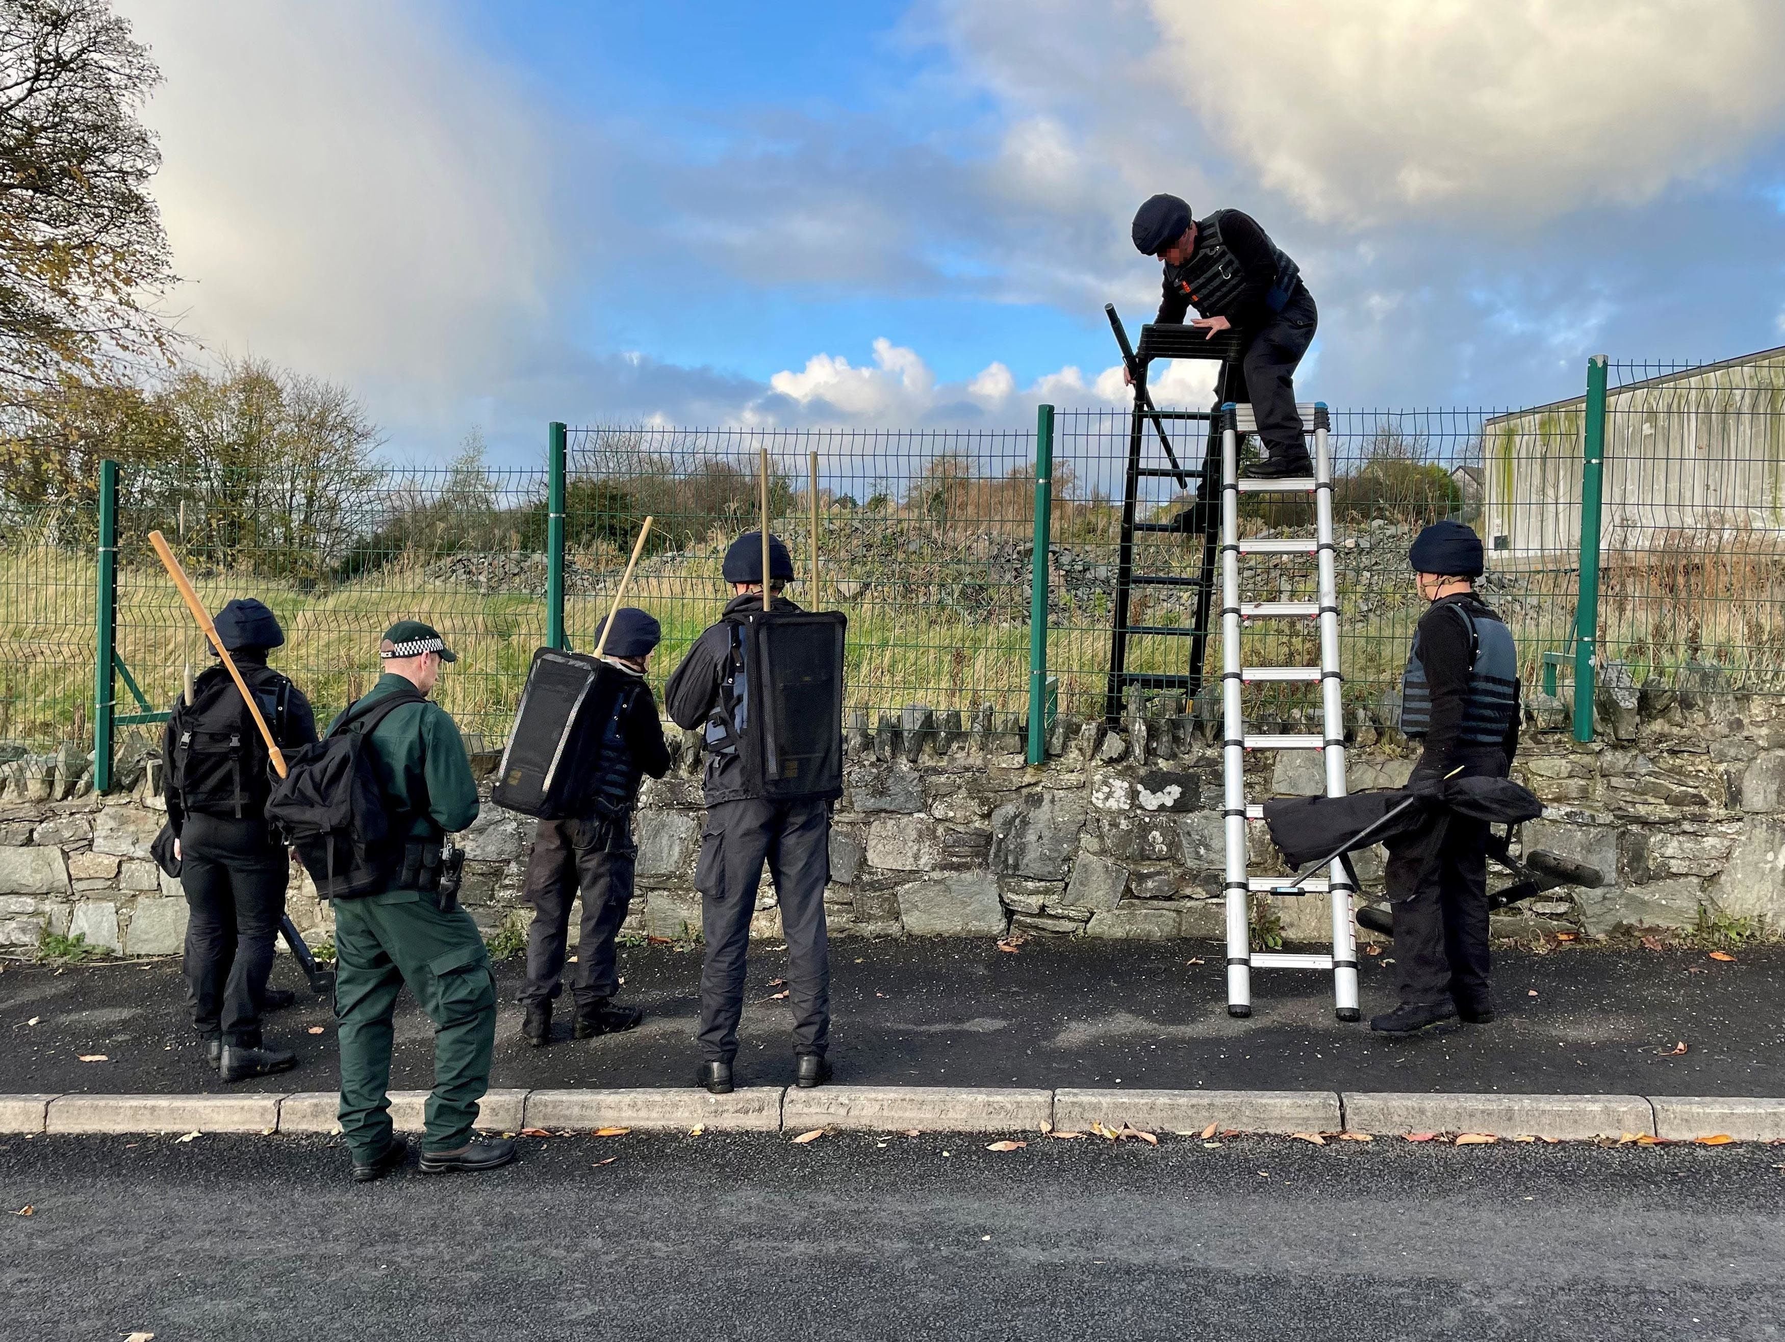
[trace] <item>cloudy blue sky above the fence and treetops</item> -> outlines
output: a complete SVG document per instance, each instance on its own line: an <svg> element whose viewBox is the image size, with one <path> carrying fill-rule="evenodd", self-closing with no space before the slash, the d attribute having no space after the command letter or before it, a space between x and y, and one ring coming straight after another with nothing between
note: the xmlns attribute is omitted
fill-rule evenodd
<svg viewBox="0 0 1785 1342"><path fill-rule="evenodd" d="M1301 266L1303 400L1535 405L1785 344L1778 0L118 0L200 357L403 460L546 421L1123 403L1155 191ZM1201 402L1201 366L1155 371Z"/></svg>

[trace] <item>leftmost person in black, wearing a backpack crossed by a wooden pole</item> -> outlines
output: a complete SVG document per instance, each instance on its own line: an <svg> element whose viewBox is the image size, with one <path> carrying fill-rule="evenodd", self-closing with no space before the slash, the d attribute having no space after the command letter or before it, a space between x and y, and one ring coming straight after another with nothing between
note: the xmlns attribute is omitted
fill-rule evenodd
<svg viewBox="0 0 1785 1342"><path fill-rule="evenodd" d="M237 598L218 610L216 630L280 750L316 741L303 691L266 664L268 651L286 642L273 612ZM271 792L266 741L221 662L193 680L191 703L182 696L175 705L161 750L168 828L189 910L186 996L205 1060L225 1081L287 1071L298 1056L264 1046L261 1017L293 1001L266 983L291 862L262 816Z"/></svg>

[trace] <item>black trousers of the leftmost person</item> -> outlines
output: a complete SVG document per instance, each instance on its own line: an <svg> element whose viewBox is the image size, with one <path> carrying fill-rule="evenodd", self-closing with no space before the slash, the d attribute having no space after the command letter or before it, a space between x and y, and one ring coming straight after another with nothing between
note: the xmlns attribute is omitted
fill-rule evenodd
<svg viewBox="0 0 1785 1342"><path fill-rule="evenodd" d="M291 864L266 823L193 814L180 826L186 891L186 996L205 1039L261 1046L273 939L286 914Z"/></svg>

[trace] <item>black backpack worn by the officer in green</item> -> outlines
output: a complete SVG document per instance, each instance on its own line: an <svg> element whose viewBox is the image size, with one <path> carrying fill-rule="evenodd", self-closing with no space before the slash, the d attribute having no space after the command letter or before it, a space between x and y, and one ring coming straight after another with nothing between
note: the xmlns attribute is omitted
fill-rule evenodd
<svg viewBox="0 0 1785 1342"><path fill-rule="evenodd" d="M321 741L286 762L266 801L266 821L298 853L320 899L353 899L391 885L403 857L403 832L391 824L366 737L414 689L352 705Z"/></svg>

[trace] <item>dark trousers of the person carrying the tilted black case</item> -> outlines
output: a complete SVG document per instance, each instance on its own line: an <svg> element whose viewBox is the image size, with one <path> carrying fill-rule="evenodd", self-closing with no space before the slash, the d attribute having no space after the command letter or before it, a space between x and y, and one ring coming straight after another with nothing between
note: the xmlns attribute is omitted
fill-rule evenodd
<svg viewBox="0 0 1785 1342"><path fill-rule="evenodd" d="M534 907L527 928L527 983L521 1003L552 1001L562 990L569 907L582 891L582 937L569 980L577 1003L612 998L619 990L614 940L632 907L637 862L632 821L539 821L534 855L527 862L521 899Z"/></svg>

